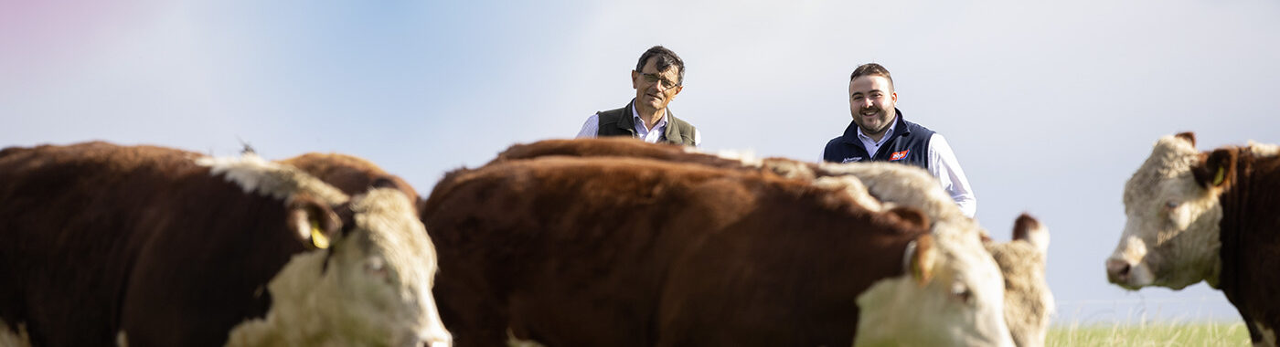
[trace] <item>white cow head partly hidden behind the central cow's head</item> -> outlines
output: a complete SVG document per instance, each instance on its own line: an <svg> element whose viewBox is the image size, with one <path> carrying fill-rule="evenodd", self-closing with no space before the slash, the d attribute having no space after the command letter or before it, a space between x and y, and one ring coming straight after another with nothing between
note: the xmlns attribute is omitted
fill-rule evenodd
<svg viewBox="0 0 1280 347"><path fill-rule="evenodd" d="M1005 321L1019 347L1044 346L1053 295L1044 280L1048 229L1030 215L1014 222L1014 239L988 243L1005 277Z"/></svg>

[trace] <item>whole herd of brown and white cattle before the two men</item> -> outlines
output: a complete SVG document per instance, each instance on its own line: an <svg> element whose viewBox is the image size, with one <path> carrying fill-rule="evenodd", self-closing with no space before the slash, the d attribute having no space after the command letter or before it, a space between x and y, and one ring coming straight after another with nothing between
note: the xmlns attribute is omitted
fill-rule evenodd
<svg viewBox="0 0 1280 347"><path fill-rule="evenodd" d="M1112 283L1280 305L1280 149L1161 138ZM1042 346L1048 232L927 172L626 138L516 145L422 198L366 160L0 151L0 346Z"/></svg>

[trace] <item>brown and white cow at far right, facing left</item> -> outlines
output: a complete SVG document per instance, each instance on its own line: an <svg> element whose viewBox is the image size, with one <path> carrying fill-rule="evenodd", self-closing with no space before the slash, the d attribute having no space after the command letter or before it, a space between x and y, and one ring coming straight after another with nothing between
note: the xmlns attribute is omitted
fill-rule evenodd
<svg viewBox="0 0 1280 347"><path fill-rule="evenodd" d="M1251 143L1196 150L1192 133L1161 137L1125 183L1120 245L1107 279L1126 289L1219 288L1254 344L1280 327L1280 150Z"/></svg>

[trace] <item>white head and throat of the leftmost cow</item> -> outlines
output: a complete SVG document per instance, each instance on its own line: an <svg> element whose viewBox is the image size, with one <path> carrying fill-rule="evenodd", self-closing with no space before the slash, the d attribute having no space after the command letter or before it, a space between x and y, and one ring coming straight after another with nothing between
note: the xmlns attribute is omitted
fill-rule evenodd
<svg viewBox="0 0 1280 347"><path fill-rule="evenodd" d="M268 286L270 311L237 325L229 346L448 339L431 297L435 251L408 197L374 188L349 202L351 230L329 250L294 255Z"/></svg>

